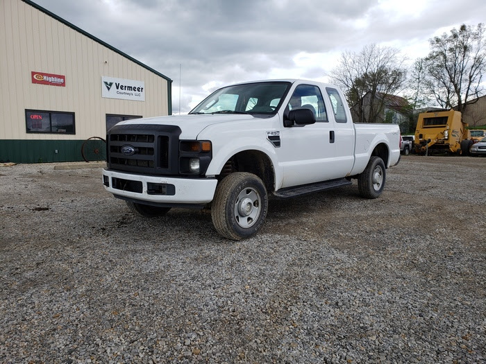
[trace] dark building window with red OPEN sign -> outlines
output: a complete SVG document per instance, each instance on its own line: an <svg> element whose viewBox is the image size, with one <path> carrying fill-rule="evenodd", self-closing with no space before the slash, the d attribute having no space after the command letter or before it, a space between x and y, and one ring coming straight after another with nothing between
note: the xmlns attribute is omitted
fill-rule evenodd
<svg viewBox="0 0 486 364"><path fill-rule="evenodd" d="M25 110L27 132L76 134L74 112Z"/></svg>

